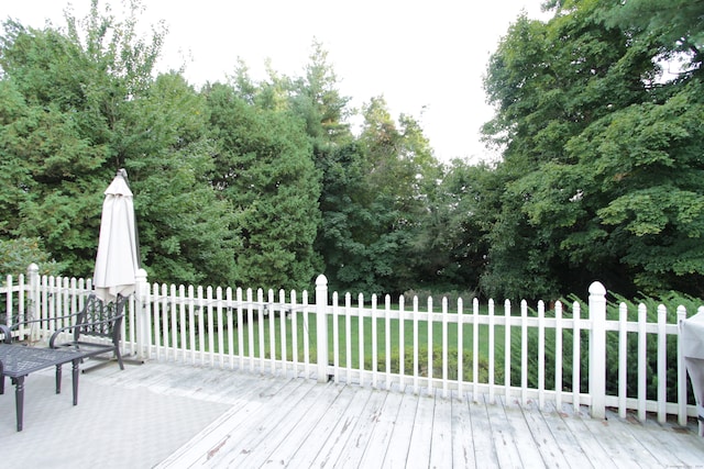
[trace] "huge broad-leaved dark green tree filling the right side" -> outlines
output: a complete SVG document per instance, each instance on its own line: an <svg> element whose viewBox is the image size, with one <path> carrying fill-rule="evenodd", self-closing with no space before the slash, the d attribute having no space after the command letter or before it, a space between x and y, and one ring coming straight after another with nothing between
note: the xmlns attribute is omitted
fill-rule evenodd
<svg viewBox="0 0 704 469"><path fill-rule="evenodd" d="M593 278L626 294L692 292L704 272L691 248L702 220L696 71L663 80L670 33L615 22L628 18L623 2L553 5L547 23L519 18L488 68L497 114L485 132L506 145L507 182L484 284L516 297Z"/></svg>

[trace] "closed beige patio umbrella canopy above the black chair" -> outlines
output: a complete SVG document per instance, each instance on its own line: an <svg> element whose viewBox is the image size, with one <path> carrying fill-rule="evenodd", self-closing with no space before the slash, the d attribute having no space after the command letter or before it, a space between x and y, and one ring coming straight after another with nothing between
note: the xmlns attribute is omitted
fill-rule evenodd
<svg viewBox="0 0 704 469"><path fill-rule="evenodd" d="M120 169L102 203L94 287L105 302L134 292L140 268L134 204L127 178L127 171Z"/></svg>

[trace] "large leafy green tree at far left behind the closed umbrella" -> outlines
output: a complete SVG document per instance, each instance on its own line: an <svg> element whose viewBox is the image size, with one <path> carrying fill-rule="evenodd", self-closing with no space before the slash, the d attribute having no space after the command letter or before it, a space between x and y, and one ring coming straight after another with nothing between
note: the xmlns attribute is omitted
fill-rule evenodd
<svg viewBox="0 0 704 469"><path fill-rule="evenodd" d="M231 210L206 178L204 104L179 77L155 82L164 33L138 36L140 4L130 5L120 21L94 1L86 19L67 15L66 32L6 22L1 235L37 237L67 271L89 277L102 191L124 167L153 279L229 283Z"/></svg>

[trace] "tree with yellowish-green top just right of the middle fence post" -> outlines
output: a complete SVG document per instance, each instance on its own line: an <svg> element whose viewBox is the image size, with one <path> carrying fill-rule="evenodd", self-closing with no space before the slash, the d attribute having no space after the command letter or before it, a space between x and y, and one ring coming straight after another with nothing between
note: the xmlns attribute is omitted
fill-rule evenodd
<svg viewBox="0 0 704 469"><path fill-rule="evenodd" d="M411 256L437 161L420 126L402 115L400 127L383 98L363 110L356 144L330 152L323 169L322 230L318 246L326 273L341 290L402 293L417 284Z"/></svg>

